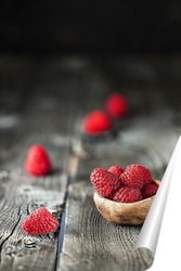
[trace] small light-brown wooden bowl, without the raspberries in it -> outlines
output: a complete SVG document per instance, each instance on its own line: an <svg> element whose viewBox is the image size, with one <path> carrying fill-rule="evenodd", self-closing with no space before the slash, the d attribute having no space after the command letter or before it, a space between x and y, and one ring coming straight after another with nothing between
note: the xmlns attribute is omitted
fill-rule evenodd
<svg viewBox="0 0 181 271"><path fill-rule="evenodd" d="M159 186L160 182L154 180ZM96 192L93 195L96 209L109 222L127 225L142 224L146 218L154 196L135 203L117 203L100 196Z"/></svg>

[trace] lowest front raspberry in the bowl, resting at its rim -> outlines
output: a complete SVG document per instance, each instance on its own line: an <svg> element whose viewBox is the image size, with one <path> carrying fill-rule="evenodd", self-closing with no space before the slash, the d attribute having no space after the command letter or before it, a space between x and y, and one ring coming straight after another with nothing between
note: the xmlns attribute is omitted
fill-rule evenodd
<svg viewBox="0 0 181 271"><path fill-rule="evenodd" d="M113 201L120 203L134 203L141 199L141 191L129 186L118 189L113 195Z"/></svg>

